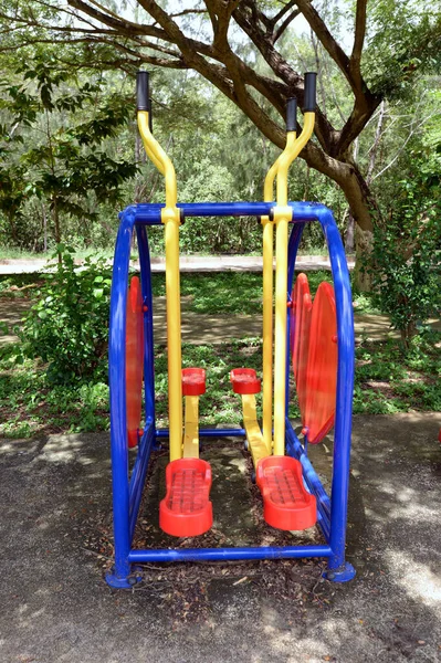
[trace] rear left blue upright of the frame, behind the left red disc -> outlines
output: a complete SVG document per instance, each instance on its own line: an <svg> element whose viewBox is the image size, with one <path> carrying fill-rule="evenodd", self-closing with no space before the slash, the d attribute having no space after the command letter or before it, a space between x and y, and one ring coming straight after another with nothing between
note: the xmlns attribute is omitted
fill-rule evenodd
<svg viewBox="0 0 441 663"><path fill-rule="evenodd" d="M146 228L144 225L137 225L136 234L138 240L143 304L147 306L147 311L144 313L144 393L145 420L147 424L149 421L155 421L155 346L151 270Z"/></svg>

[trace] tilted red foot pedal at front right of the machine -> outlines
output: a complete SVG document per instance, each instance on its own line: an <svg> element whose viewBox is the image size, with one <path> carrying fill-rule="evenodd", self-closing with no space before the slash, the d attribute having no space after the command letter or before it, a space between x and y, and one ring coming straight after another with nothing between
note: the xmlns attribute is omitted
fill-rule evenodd
<svg viewBox="0 0 441 663"><path fill-rule="evenodd" d="M267 456L258 463L256 484L263 517L277 529L306 529L317 520L314 495L303 485L302 465L290 456Z"/></svg>

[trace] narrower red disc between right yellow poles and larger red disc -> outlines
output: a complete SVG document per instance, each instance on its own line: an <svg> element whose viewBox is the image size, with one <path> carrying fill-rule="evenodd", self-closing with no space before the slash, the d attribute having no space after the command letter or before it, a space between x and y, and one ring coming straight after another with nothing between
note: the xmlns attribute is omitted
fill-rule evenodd
<svg viewBox="0 0 441 663"><path fill-rule="evenodd" d="M306 375L313 303L306 274L298 274L292 293L291 351L302 423L305 424Z"/></svg>

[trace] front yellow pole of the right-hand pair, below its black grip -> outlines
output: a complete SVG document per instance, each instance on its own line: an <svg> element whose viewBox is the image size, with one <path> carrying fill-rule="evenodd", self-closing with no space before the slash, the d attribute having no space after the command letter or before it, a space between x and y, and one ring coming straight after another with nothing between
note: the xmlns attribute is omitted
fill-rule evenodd
<svg viewBox="0 0 441 663"><path fill-rule="evenodd" d="M281 155L277 168L277 207L274 210L276 227L274 455L284 455L285 453L287 230L292 217L291 208L287 206L287 171L309 140L314 130L314 120L315 112L304 114L303 131L297 139L294 136L287 136L286 148Z"/></svg>

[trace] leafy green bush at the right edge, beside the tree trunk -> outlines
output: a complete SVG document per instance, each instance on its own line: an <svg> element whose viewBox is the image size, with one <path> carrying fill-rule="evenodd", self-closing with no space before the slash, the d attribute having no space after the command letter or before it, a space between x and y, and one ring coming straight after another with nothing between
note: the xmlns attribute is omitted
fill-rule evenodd
<svg viewBox="0 0 441 663"><path fill-rule="evenodd" d="M441 136L430 162L414 159L412 176L398 182L387 220L375 228L374 304L390 316L406 347L418 325L440 311L440 181Z"/></svg>

